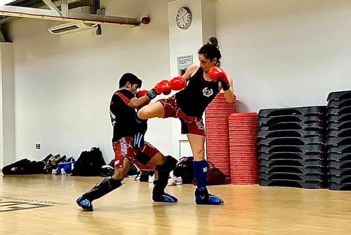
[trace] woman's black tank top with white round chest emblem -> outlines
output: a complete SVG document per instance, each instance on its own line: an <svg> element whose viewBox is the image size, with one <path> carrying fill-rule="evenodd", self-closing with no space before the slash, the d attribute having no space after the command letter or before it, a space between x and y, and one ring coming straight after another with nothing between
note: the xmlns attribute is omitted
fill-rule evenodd
<svg viewBox="0 0 351 235"><path fill-rule="evenodd" d="M179 108L190 117L202 117L206 107L219 93L218 81L206 81L203 69L199 67L189 79L185 89L175 94Z"/></svg>

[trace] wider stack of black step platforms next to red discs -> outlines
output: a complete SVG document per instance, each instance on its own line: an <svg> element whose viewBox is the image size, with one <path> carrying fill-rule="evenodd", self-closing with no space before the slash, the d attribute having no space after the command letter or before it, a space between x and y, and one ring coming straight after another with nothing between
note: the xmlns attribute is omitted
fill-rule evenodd
<svg viewBox="0 0 351 235"><path fill-rule="evenodd" d="M326 108L260 110L260 185L326 187Z"/></svg>

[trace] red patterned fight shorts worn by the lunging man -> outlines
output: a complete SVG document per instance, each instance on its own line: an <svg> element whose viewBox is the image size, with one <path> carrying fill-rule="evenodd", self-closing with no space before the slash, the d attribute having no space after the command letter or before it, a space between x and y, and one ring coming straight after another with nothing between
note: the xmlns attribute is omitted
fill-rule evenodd
<svg viewBox="0 0 351 235"><path fill-rule="evenodd" d="M114 168L115 169L121 168L123 166L124 158L127 158L132 164L135 164L139 169L145 170L146 168L150 168L150 170L153 170L153 168L155 168L154 165L150 166L148 164L144 166L135 159L135 156L138 152L142 152L148 155L151 159L152 157L154 157L156 154L159 153L159 150L157 150L154 146L152 146L150 143L146 141L142 147L134 148L133 142L134 142L134 139L132 137L123 137L117 140L116 142L112 143L113 150L114 150L114 160L115 160Z"/></svg>

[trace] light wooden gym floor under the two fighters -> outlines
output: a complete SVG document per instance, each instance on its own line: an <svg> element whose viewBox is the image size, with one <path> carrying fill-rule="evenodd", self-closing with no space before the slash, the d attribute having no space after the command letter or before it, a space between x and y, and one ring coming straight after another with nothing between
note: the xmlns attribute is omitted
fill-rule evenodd
<svg viewBox="0 0 351 235"><path fill-rule="evenodd" d="M127 178L82 211L76 198L100 179L0 173L0 235L351 234L351 192L221 185L209 189L224 206L196 206L194 187L179 185L169 205L152 202L151 183Z"/></svg>

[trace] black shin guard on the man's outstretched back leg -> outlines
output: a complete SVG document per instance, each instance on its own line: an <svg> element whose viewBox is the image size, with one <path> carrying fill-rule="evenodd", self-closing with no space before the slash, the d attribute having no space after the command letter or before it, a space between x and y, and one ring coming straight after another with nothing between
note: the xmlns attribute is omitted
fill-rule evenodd
<svg viewBox="0 0 351 235"><path fill-rule="evenodd" d="M106 195L121 185L121 181L115 180L112 177L107 177L98 182L93 188L83 194L82 197L88 199L89 201L93 201L102 197L103 195Z"/></svg>

